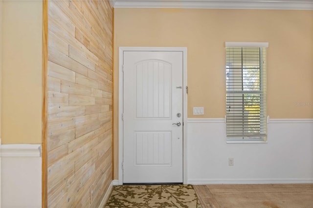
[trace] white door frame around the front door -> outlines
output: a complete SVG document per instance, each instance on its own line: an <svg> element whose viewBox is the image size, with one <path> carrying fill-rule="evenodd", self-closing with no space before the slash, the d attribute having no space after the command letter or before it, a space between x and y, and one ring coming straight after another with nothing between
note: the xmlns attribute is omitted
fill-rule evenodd
<svg viewBox="0 0 313 208"><path fill-rule="evenodd" d="M123 60L124 51L173 51L182 52L182 109L183 109L183 183L187 184L187 47L119 47L118 60L118 184L123 185Z"/></svg>

